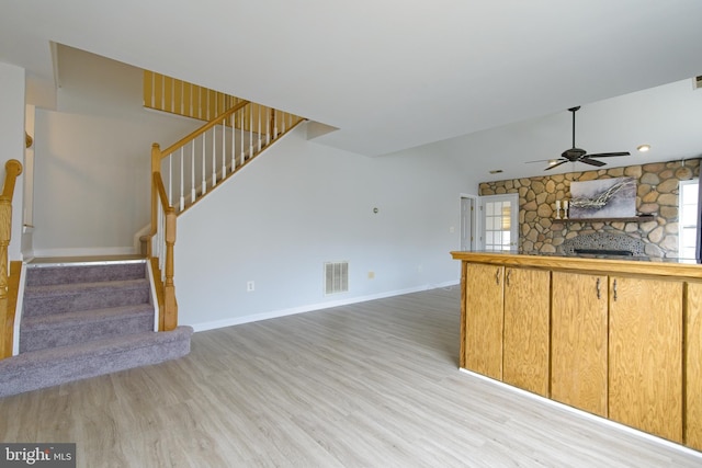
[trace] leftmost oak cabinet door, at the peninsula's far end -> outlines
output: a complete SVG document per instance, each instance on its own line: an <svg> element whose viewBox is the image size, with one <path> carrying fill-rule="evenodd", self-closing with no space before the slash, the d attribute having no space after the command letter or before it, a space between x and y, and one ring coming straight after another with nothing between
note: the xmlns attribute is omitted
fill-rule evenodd
<svg viewBox="0 0 702 468"><path fill-rule="evenodd" d="M466 368L502 378L505 267L469 263L466 271Z"/></svg>

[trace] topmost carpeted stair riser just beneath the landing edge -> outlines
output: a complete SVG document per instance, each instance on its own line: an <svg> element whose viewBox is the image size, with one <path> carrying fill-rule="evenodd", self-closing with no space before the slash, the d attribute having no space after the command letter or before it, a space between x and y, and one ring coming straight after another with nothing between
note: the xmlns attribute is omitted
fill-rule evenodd
<svg viewBox="0 0 702 468"><path fill-rule="evenodd" d="M35 266L26 270L26 286L94 283L146 277L144 261L107 264Z"/></svg>

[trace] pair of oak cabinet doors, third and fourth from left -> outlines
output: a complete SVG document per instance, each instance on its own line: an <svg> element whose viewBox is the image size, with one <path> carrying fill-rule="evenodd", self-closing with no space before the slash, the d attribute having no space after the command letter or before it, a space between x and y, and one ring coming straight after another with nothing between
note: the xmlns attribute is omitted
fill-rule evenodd
<svg viewBox="0 0 702 468"><path fill-rule="evenodd" d="M553 273L554 400L682 442L681 339L681 282Z"/></svg>

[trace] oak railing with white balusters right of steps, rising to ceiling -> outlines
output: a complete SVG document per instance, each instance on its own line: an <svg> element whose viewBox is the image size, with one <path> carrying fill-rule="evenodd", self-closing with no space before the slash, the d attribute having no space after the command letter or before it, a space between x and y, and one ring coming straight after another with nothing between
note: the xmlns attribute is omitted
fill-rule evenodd
<svg viewBox="0 0 702 468"><path fill-rule="evenodd" d="M303 118L239 101L165 150L151 147L151 239L148 255L160 271L161 330L178 323L173 252L177 216L234 175Z"/></svg>

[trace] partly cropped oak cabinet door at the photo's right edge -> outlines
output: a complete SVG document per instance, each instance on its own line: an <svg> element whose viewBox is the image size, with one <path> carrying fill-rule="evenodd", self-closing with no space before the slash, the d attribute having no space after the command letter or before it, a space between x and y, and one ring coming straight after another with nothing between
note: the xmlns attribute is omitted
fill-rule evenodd
<svg viewBox="0 0 702 468"><path fill-rule="evenodd" d="M684 443L702 450L702 284L687 287Z"/></svg>

